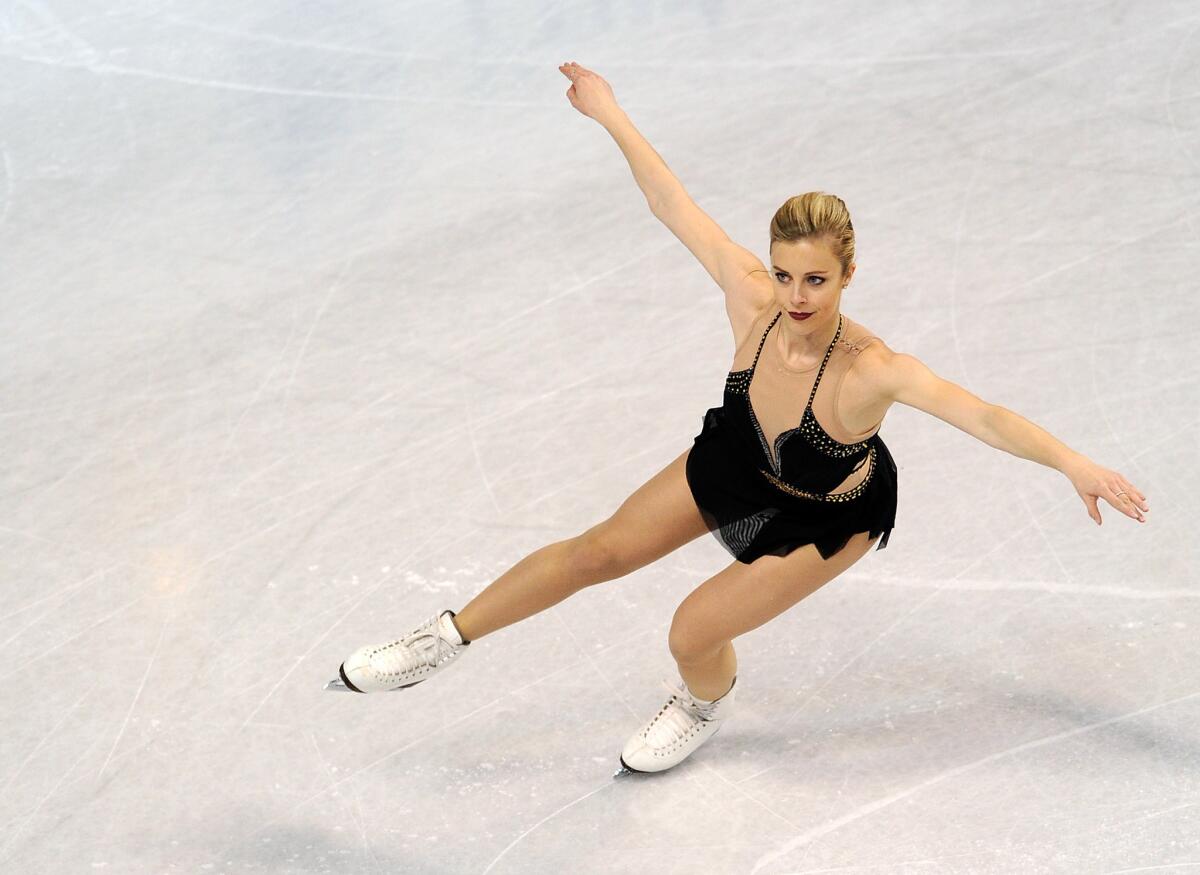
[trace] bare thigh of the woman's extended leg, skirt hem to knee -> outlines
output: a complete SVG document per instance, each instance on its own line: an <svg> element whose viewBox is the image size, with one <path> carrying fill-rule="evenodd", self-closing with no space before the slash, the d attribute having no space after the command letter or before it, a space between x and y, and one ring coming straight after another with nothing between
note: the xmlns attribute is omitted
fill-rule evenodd
<svg viewBox="0 0 1200 875"><path fill-rule="evenodd" d="M708 533L688 485L689 453L691 448L642 484L612 516L581 535L619 574L648 565Z"/></svg>

